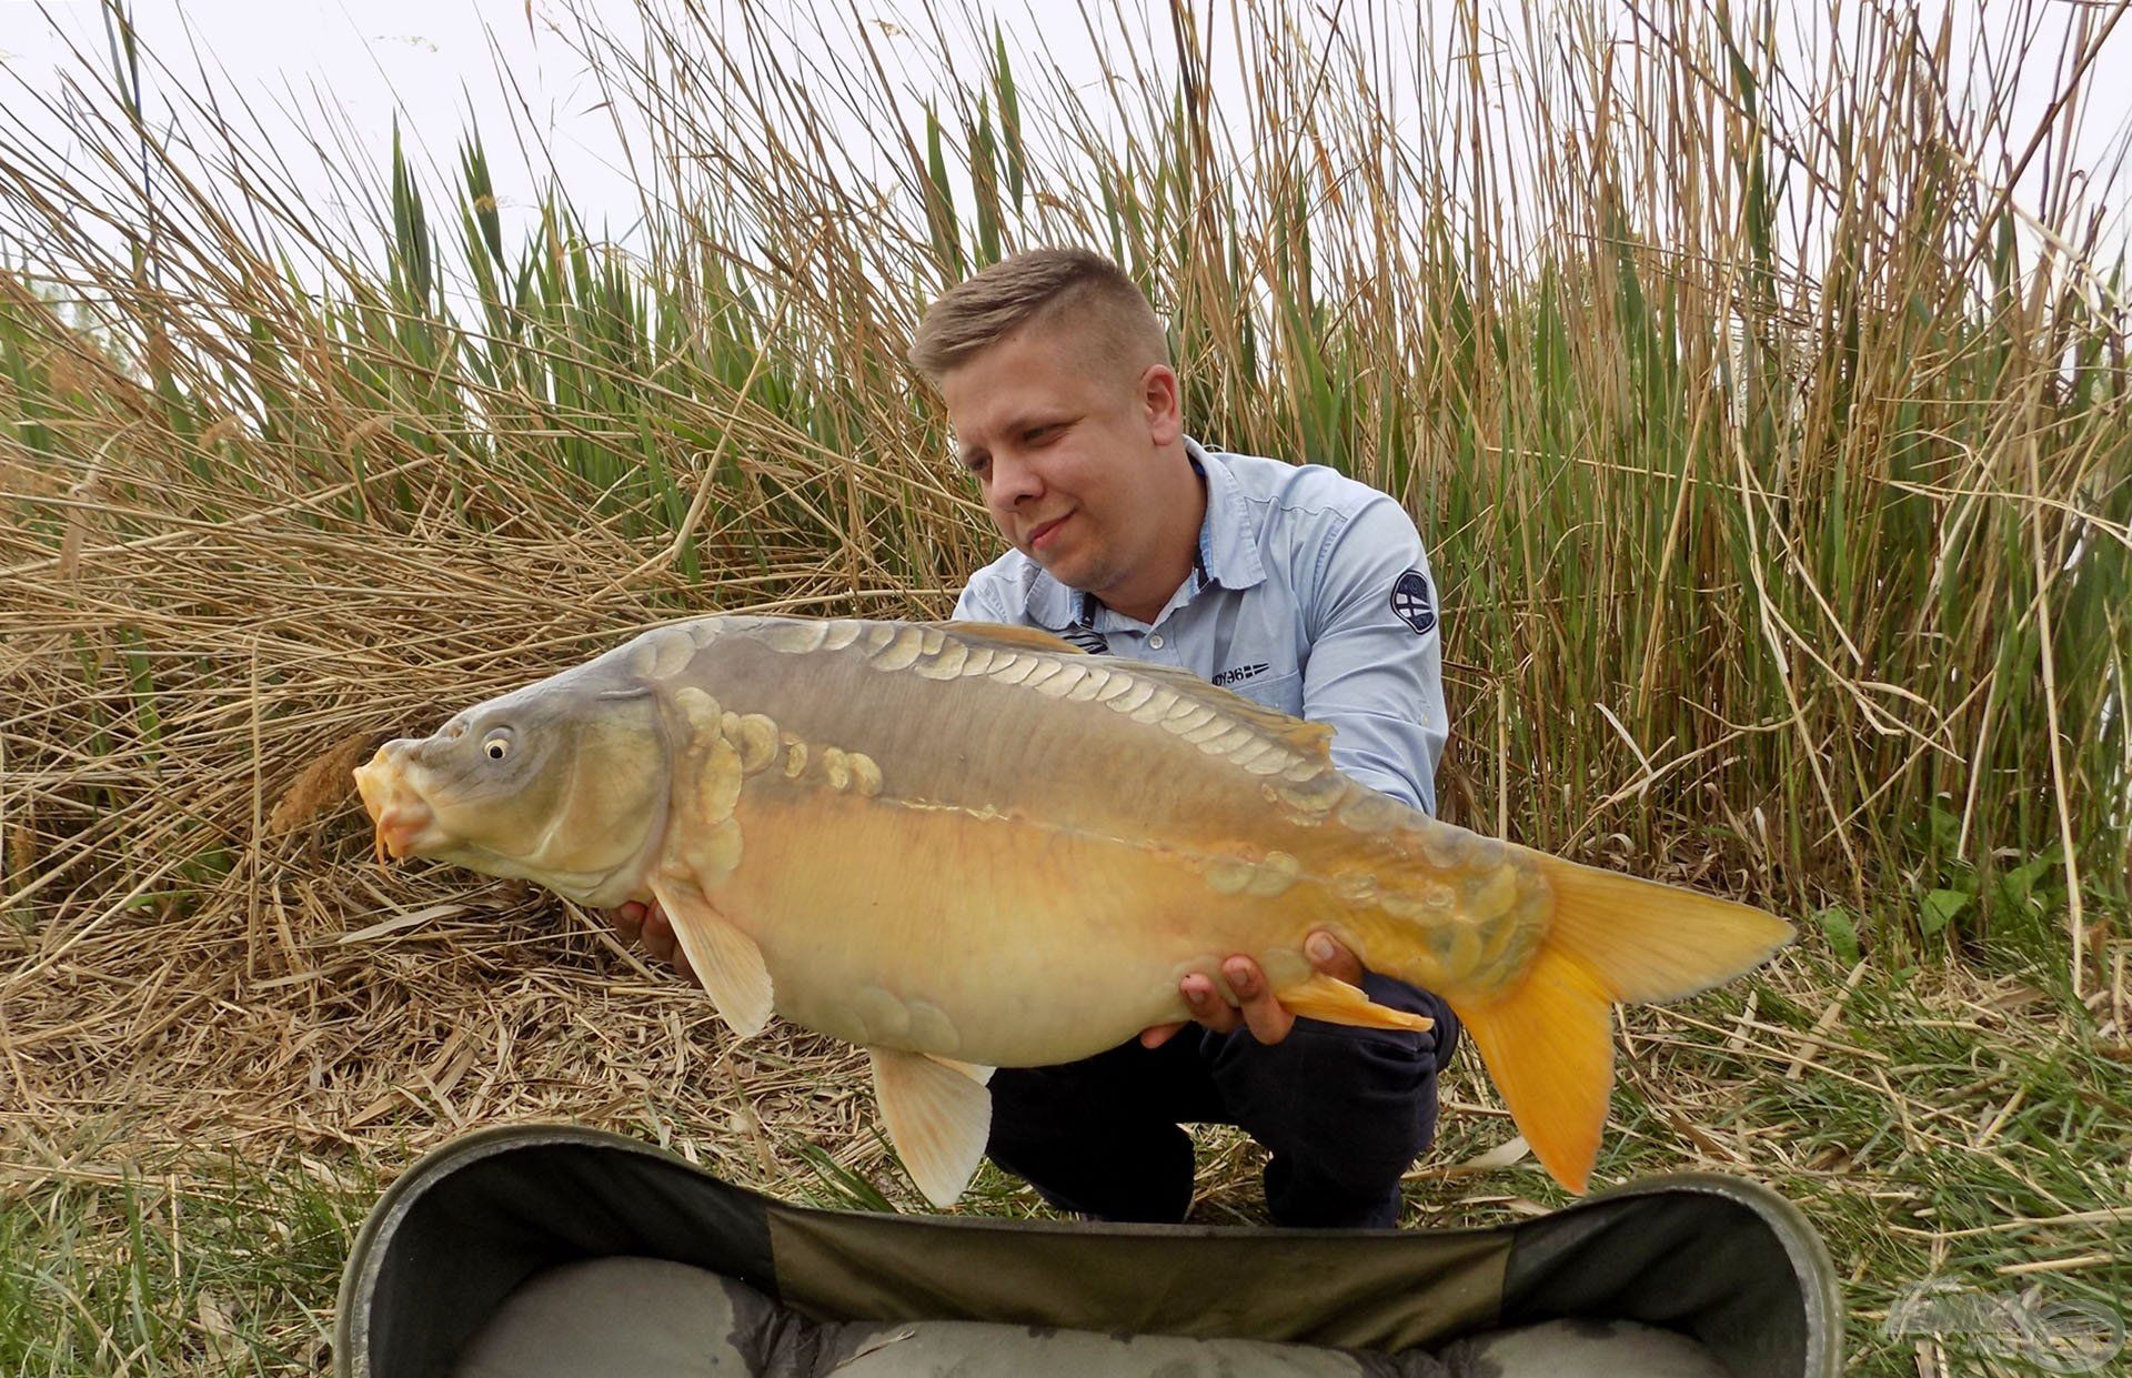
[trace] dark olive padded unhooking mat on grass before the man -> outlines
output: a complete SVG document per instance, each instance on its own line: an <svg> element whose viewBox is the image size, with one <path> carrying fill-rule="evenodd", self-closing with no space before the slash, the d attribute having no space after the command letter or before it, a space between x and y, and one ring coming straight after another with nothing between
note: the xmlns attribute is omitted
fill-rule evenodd
<svg viewBox="0 0 2132 1378"><path fill-rule="evenodd" d="M1834 1378L1827 1250L1674 1175L1463 1231L887 1216L512 1126L416 1163L341 1280L337 1378Z"/></svg>

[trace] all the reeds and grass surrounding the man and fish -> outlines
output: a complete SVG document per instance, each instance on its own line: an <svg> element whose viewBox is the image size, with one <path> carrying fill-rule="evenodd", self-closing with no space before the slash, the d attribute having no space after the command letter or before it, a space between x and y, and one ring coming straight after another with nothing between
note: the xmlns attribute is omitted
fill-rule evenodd
<svg viewBox="0 0 2132 1378"><path fill-rule="evenodd" d="M1414 512L1448 817L1802 924L1629 1020L1601 1180L1802 1201L1863 1372L1940 1361L1874 1329L1915 1282L2128 1293L2123 183L2064 137L2126 6L2066 21L2040 124L1996 96L2040 4L1972 83L1902 9L1816 62L1774 4L1452 6L1409 139L1367 26L1277 6L1100 90L944 11L989 62L915 115L740 15L576 32L650 130L629 252L471 130L335 166L377 218L330 224L277 173L328 132L249 143L175 53L134 53L171 122L85 60L72 158L0 117L0 1367L313 1367L365 1192L482 1122L915 1199L840 1052L729 1049L591 915L367 870L345 779L661 616L942 614L994 542L902 352L1051 241L1149 288L1196 435ZM1556 1205L1467 1077L1416 1222ZM1256 1218L1247 1145L1205 1163Z"/></svg>

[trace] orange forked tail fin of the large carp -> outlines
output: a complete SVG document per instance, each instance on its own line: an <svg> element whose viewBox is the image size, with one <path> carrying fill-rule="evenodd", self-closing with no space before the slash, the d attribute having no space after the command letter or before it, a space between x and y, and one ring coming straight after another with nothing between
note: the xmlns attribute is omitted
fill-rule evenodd
<svg viewBox="0 0 2132 1378"><path fill-rule="evenodd" d="M1486 1003L1454 1003L1533 1156L1584 1195L1608 1094L1608 1007L1678 1000L1753 971L1791 924L1746 904L1539 855L1554 887L1527 977Z"/></svg>

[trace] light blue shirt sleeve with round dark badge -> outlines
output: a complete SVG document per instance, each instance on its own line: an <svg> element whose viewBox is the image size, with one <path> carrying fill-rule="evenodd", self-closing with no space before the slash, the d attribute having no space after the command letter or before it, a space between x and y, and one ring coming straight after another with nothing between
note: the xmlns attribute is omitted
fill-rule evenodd
<svg viewBox="0 0 2132 1378"><path fill-rule="evenodd" d="M1367 503L1326 542L1303 619L1303 717L1332 727L1332 764L1435 815L1450 738L1441 608L1399 503Z"/></svg>

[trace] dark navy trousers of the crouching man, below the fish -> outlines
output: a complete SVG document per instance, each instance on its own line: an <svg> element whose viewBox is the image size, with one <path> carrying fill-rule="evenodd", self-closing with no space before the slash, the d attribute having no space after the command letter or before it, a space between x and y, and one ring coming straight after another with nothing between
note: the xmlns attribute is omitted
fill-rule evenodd
<svg viewBox="0 0 2132 1378"><path fill-rule="evenodd" d="M1098 1220L1179 1222L1192 1205L1192 1137L1234 1124L1271 1150L1275 1224L1399 1224L1399 1180L1437 1135L1437 1073L1458 1018L1437 996L1367 973L1362 990L1437 1022L1431 1032L1296 1020L1279 1043L1188 1024L1062 1067L991 1077L987 1152L1051 1205Z"/></svg>

